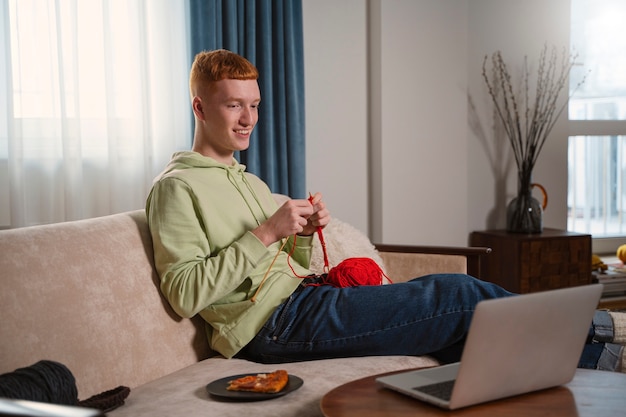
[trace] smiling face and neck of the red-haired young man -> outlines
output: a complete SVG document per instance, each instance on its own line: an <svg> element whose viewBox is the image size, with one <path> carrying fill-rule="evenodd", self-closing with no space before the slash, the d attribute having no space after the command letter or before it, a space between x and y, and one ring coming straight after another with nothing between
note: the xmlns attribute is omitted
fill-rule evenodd
<svg viewBox="0 0 626 417"><path fill-rule="evenodd" d="M230 165L235 151L250 146L260 102L256 80L225 79L201 89L192 100L196 117L193 151Z"/></svg>

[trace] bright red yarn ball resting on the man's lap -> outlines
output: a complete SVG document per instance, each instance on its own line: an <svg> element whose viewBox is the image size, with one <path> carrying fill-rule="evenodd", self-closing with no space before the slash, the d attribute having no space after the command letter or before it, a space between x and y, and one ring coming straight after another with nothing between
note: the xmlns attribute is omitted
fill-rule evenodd
<svg viewBox="0 0 626 417"><path fill-rule="evenodd" d="M328 271L326 284L339 288L381 285L383 277L389 279L374 260L370 258L348 258Z"/></svg>

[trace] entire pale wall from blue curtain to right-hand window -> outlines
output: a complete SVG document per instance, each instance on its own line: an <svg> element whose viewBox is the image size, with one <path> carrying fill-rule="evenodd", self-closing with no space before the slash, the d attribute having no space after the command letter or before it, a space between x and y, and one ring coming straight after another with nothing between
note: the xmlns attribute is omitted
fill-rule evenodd
<svg viewBox="0 0 626 417"><path fill-rule="evenodd" d="M494 146L482 59L566 47L569 1L304 0L303 15L307 183L333 214L385 243L466 245L472 230L504 227L515 169L496 191L470 128L480 121ZM544 225L564 228L564 120L534 180L550 195Z"/></svg>

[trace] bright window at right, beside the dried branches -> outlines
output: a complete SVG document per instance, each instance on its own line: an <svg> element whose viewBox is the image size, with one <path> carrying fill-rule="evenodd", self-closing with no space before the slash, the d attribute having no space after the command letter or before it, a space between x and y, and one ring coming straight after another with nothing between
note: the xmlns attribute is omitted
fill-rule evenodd
<svg viewBox="0 0 626 417"><path fill-rule="evenodd" d="M594 252L626 241L626 3L572 0L568 230L591 233ZM615 240L621 239L621 240Z"/></svg>

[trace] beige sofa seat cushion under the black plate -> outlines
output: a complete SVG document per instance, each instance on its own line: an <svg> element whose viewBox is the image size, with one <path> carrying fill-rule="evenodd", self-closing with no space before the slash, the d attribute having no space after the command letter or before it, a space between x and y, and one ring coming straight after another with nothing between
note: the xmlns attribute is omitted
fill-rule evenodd
<svg viewBox="0 0 626 417"><path fill-rule="evenodd" d="M280 365L263 365L243 359L211 358L149 382L131 391L126 404L109 417L220 416L220 417L321 417L324 394L355 379L383 372L436 366L430 357L380 356L327 359ZM288 395L259 402L232 402L212 398L206 385L216 379L244 373L285 369L304 381Z"/></svg>

